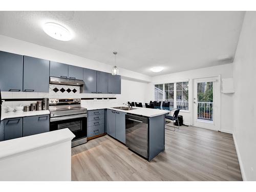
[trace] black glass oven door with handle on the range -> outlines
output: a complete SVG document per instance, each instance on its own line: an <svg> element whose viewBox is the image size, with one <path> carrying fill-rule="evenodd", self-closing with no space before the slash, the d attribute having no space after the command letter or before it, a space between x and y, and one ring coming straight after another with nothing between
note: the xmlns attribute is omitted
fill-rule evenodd
<svg viewBox="0 0 256 192"><path fill-rule="evenodd" d="M72 141L87 138L87 114L76 114L50 118L50 131L56 131L65 128L68 128L75 135L75 138L73 138Z"/></svg>

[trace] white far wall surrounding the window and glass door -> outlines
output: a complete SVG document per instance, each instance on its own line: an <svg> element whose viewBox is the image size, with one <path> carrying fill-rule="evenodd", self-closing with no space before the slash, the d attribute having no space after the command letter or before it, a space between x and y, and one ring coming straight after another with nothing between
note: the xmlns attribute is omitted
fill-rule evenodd
<svg viewBox="0 0 256 192"><path fill-rule="evenodd" d="M154 100L154 83L189 80L189 111L180 112L183 115L184 124L193 124L193 79L221 75L221 78L232 77L232 64L201 68L179 73L155 76L152 83L148 83L148 95L146 100ZM233 94L221 94L221 131L232 133L233 131Z"/></svg>

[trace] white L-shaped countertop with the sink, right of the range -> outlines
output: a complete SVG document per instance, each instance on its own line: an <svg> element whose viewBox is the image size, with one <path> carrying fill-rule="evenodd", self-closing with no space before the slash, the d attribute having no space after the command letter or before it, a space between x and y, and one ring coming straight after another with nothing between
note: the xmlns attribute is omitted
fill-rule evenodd
<svg viewBox="0 0 256 192"><path fill-rule="evenodd" d="M166 113L169 113L169 111L167 111L167 110L136 108L134 106L133 106L133 108L135 108L135 110L125 111L125 110L114 109L113 107L115 107L115 106L125 106L125 105L118 104L118 103L83 104L82 105L82 107L87 108L87 110L110 109L110 110L120 111L120 112L124 112L124 113L130 113L130 114L134 114L134 115L142 115L145 117L155 117L155 116L164 115Z"/></svg>

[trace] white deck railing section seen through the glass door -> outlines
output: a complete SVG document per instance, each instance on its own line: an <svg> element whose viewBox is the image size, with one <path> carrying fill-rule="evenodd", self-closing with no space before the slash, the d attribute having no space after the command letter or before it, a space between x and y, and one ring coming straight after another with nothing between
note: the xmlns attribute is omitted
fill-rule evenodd
<svg viewBox="0 0 256 192"><path fill-rule="evenodd" d="M197 118L213 120L214 117L214 103L213 102L198 102Z"/></svg>

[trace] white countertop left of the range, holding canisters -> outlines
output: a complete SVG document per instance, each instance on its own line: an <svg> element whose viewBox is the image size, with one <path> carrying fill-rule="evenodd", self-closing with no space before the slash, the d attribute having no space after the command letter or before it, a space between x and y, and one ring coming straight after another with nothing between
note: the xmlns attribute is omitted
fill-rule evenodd
<svg viewBox="0 0 256 192"><path fill-rule="evenodd" d="M35 115L48 115L50 114L49 110L42 110L42 111L28 111L28 112L10 112L10 113L2 113L1 121L8 118L16 118L16 117L28 117L28 116L35 116Z"/></svg>

